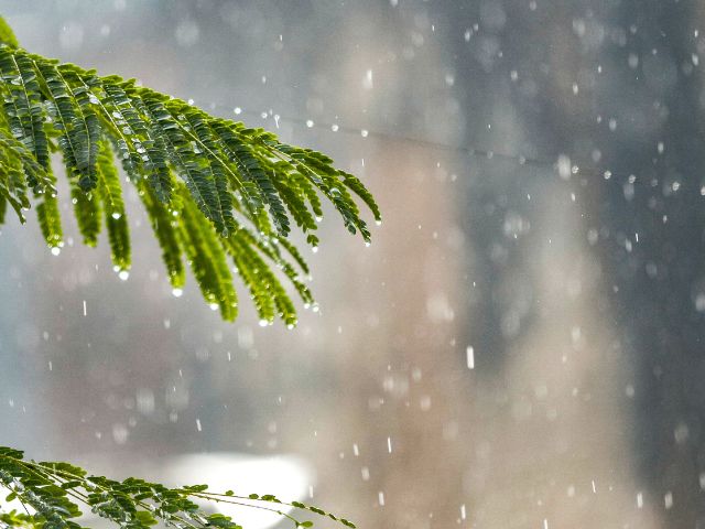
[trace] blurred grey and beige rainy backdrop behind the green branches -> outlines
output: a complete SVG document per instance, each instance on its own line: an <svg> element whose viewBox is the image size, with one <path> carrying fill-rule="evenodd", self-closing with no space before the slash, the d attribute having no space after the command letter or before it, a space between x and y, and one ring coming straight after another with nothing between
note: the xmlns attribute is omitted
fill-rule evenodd
<svg viewBox="0 0 705 529"><path fill-rule="evenodd" d="M0 445L364 528L705 528L704 2L0 8L330 154L384 216L367 248L328 215L294 331L173 296L134 196L127 281L68 203L57 257L11 219Z"/></svg>

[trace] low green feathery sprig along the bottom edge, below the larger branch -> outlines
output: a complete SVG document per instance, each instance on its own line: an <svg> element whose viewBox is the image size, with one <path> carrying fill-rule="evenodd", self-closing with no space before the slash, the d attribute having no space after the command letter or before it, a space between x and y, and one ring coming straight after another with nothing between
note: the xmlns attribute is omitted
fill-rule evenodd
<svg viewBox="0 0 705 529"><path fill-rule="evenodd" d="M23 456L18 450L0 446L0 487L9 492L6 501L17 499L25 511L4 511L0 501L0 529L80 529L82 505L122 529L150 529L159 522L177 529L242 529L230 517L209 514L196 504L204 500L268 510L295 528L312 527L313 522L284 510L313 512L355 529L351 521L318 507L284 503L272 495L217 494L208 492L207 485L169 488L134 477L120 482L88 475L68 463L35 462Z"/></svg>

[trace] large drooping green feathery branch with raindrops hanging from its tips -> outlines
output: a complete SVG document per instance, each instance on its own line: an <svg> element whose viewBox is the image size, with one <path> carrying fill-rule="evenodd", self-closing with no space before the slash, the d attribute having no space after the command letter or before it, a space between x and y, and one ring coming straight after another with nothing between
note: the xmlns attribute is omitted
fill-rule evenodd
<svg viewBox="0 0 705 529"><path fill-rule="evenodd" d="M263 321L295 324L292 290L313 302L300 277L308 268L286 236L293 222L317 246L321 196L366 241L356 199L380 219L365 185L324 154L134 80L0 45L0 222L8 209L24 222L34 204L47 246L63 246L50 155L61 152L84 242L96 246L105 227L113 267L127 272L130 237L117 161L137 186L173 288L184 285L187 263L225 320L238 313L232 272Z"/></svg>

